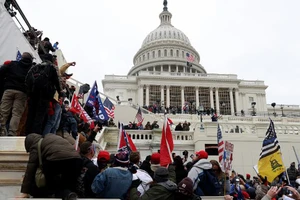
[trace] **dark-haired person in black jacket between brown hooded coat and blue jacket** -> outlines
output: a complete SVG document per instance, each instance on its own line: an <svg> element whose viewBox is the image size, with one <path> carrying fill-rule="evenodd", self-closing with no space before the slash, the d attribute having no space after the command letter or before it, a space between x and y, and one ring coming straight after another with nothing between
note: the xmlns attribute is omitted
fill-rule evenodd
<svg viewBox="0 0 300 200"><path fill-rule="evenodd" d="M83 173L84 190L77 191L79 197L96 197L91 189L94 178L100 173L99 168L91 160L95 155L95 151L95 145L89 141L80 145L80 155L83 160L83 170L85 170L85 173Z"/></svg>

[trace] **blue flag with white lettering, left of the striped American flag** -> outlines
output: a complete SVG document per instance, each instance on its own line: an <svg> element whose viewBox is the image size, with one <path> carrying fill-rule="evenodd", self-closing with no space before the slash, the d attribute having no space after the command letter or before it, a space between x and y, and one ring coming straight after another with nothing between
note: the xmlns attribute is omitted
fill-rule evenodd
<svg viewBox="0 0 300 200"><path fill-rule="evenodd" d="M102 120L102 121L107 121L109 119L109 117L105 111L105 108L102 104L96 81L92 87L92 90L87 99L86 105L93 107L93 118L94 119Z"/></svg>

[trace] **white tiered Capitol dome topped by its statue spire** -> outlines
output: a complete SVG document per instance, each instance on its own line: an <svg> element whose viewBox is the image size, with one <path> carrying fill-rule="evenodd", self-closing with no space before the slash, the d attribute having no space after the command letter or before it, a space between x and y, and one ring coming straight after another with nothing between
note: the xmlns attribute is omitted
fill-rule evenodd
<svg viewBox="0 0 300 200"><path fill-rule="evenodd" d="M167 4L165 0L163 12L159 15L160 25L144 39L128 75L138 76L141 71L206 74L200 64L200 55L189 38L172 25Z"/></svg>

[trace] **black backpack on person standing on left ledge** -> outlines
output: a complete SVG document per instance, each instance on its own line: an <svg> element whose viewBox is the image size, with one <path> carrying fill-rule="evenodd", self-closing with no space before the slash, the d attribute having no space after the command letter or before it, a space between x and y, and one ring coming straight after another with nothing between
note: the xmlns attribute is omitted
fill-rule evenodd
<svg viewBox="0 0 300 200"><path fill-rule="evenodd" d="M49 91L50 70L49 63L41 63L33 66L26 77L26 85L29 92Z"/></svg>

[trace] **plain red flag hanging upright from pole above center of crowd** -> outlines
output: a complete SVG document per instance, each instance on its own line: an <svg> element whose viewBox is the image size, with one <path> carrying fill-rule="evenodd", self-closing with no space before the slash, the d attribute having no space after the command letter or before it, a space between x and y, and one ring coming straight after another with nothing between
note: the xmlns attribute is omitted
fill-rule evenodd
<svg viewBox="0 0 300 200"><path fill-rule="evenodd" d="M174 149L172 132L170 125L168 124L167 116L165 116L165 121L161 134L160 143L160 165L167 166L173 162L172 151Z"/></svg>

